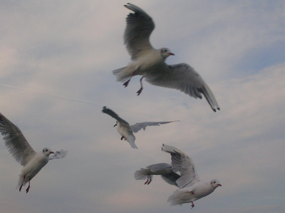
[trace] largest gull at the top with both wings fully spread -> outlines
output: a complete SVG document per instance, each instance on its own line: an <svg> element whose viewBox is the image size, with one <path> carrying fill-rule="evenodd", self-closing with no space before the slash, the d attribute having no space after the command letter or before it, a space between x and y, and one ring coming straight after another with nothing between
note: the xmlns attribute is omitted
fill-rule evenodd
<svg viewBox="0 0 285 213"><path fill-rule="evenodd" d="M143 90L142 80L145 78L148 83L178 89L195 99L201 99L203 94L214 112L220 110L210 88L191 66L185 63L168 65L165 63L166 58L174 54L168 48L154 49L151 46L149 37L154 30L152 18L131 3L124 6L135 12L127 16L124 32L124 44L132 62L113 70L117 81L125 82L123 85L127 87L133 76L141 75L141 88L137 95Z"/></svg>

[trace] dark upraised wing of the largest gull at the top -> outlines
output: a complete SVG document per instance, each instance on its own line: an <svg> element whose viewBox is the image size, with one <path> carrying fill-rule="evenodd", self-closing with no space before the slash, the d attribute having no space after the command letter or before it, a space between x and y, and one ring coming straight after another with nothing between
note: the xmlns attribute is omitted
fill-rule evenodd
<svg viewBox="0 0 285 213"><path fill-rule="evenodd" d="M124 44L131 55L131 59L144 54L144 51L152 49L149 36L154 29L154 23L150 16L139 7L127 3L124 5L135 13L130 13L126 18L126 29L124 33Z"/></svg>

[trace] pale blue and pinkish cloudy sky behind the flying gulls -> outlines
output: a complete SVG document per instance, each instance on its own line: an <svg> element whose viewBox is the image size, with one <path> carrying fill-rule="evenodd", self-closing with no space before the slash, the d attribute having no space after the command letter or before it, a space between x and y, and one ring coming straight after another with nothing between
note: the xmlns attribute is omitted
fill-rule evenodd
<svg viewBox="0 0 285 213"><path fill-rule="evenodd" d="M124 88L112 70L126 66L125 1L0 1L0 112L35 151L68 155L16 188L22 166L0 143L2 213L284 212L284 1L132 1L155 23L154 48L190 64L221 108L205 98L150 85ZM135 133L132 149L113 128L114 110L130 124L180 120ZM191 204L170 206L177 189L134 172L171 163L162 143L195 163L201 180L222 187ZM24 188L25 189L25 188Z"/></svg>

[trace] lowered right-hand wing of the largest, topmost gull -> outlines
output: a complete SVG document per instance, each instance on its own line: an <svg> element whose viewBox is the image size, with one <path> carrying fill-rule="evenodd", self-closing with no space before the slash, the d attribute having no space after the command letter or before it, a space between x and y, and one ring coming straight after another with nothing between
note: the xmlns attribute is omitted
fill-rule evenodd
<svg viewBox="0 0 285 213"><path fill-rule="evenodd" d="M197 99L205 96L211 108L216 112L220 110L219 105L211 92L210 88L201 76L188 64L173 64L156 68L154 72L144 75L146 81L160 87L179 89L180 91Z"/></svg>

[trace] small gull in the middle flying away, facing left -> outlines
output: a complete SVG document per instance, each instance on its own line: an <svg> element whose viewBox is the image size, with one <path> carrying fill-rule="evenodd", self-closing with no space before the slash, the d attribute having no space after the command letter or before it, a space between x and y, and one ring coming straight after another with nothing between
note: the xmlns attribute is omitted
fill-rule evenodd
<svg viewBox="0 0 285 213"><path fill-rule="evenodd" d="M113 110L107 108L106 106L103 106L102 112L112 116L113 118L117 120L115 126L117 126L117 130L122 136L121 140L125 139L126 141L128 141L133 149L138 149L138 147L135 145L136 137L133 133L137 133L141 129L145 130L147 126L160 126L159 124L167 124L170 122L176 122L176 121L142 122L142 123L136 123L130 126L127 121L120 118L118 114L116 114Z"/></svg>

